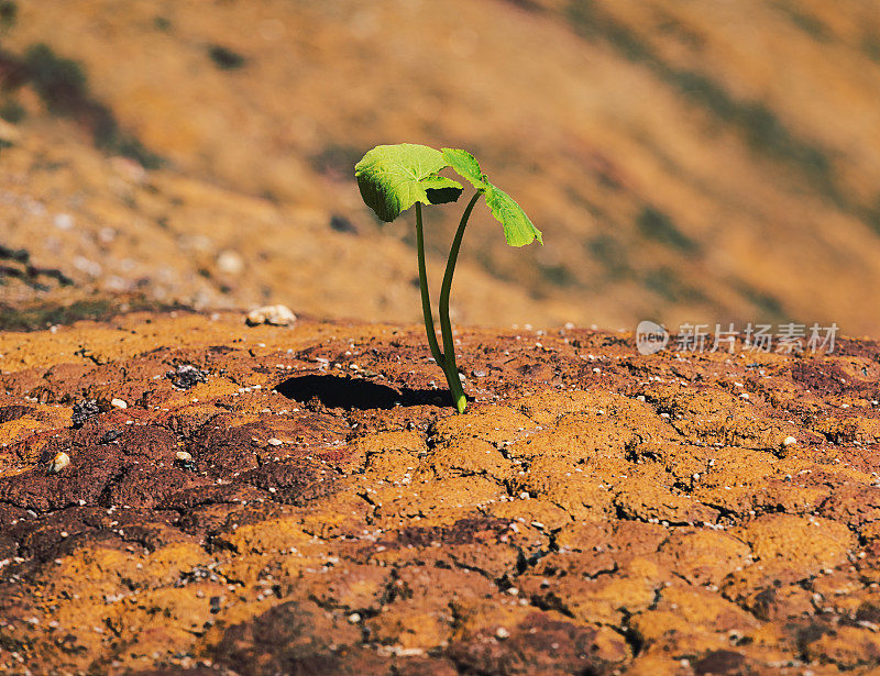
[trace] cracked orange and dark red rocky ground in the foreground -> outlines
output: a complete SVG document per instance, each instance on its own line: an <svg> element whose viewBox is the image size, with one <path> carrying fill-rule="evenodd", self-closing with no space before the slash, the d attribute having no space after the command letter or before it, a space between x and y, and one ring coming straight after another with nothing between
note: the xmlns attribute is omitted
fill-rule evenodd
<svg viewBox="0 0 880 676"><path fill-rule="evenodd" d="M877 343L459 341L464 415L416 326L0 334L0 671L875 673Z"/></svg>

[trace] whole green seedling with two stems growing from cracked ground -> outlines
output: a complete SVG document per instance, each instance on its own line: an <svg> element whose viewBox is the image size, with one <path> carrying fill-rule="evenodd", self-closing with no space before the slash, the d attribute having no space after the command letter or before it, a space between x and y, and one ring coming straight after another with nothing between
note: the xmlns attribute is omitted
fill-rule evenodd
<svg viewBox="0 0 880 676"><path fill-rule="evenodd" d="M440 288L438 317L443 350L437 342L433 325L431 299L428 292L428 275L425 266L425 236L421 226L421 206L446 204L459 199L464 188L451 178L439 173L451 167L468 180L476 192L468 202L461 217L455 237L449 250L447 270ZM463 413L468 398L461 386L461 376L455 365L455 346L452 340L452 323L449 321L449 296L452 290L452 276L455 274L455 262L464 237L464 229L474 204L484 197L492 215L504 229L504 236L510 246L525 246L535 240L541 244L541 232L532 225L526 212L519 208L509 195L492 185L480 168L473 155L466 151L443 148L437 151L427 145L400 143L398 145L380 145L364 155L354 167L358 187L364 202L376 215L391 223L403 211L416 206L416 247L419 262L419 288L421 290L421 310L425 314L425 329L428 333L428 345L437 364L443 369L452 395L452 402Z"/></svg>

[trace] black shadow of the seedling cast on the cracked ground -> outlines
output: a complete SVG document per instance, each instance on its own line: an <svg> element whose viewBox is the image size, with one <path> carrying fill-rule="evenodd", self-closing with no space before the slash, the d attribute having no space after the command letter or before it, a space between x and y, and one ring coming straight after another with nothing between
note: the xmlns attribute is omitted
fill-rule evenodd
<svg viewBox="0 0 880 676"><path fill-rule="evenodd" d="M393 389L387 385L341 378L339 376L298 376L289 378L275 388L279 394L295 401L306 403L317 398L329 409L393 409L400 406L452 406L447 390Z"/></svg>

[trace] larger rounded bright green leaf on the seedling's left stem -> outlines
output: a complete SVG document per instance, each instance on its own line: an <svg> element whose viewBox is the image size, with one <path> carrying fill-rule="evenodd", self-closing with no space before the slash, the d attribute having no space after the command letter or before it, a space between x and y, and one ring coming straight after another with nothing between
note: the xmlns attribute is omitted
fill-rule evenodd
<svg viewBox="0 0 880 676"><path fill-rule="evenodd" d="M400 143L367 152L355 165L354 175L366 206L391 223L416 202L442 204L459 199L461 184L437 175L447 166L440 151Z"/></svg>

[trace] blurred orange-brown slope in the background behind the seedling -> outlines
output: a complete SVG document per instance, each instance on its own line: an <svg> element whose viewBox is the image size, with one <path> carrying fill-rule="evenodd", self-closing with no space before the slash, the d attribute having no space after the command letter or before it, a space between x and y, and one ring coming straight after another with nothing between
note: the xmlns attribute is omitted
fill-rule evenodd
<svg viewBox="0 0 880 676"><path fill-rule="evenodd" d="M477 208L455 321L880 335L876 0L0 0L0 24L7 328L419 321L413 217L353 180L411 142L472 151L543 231L509 248ZM435 288L463 206L426 212Z"/></svg>

